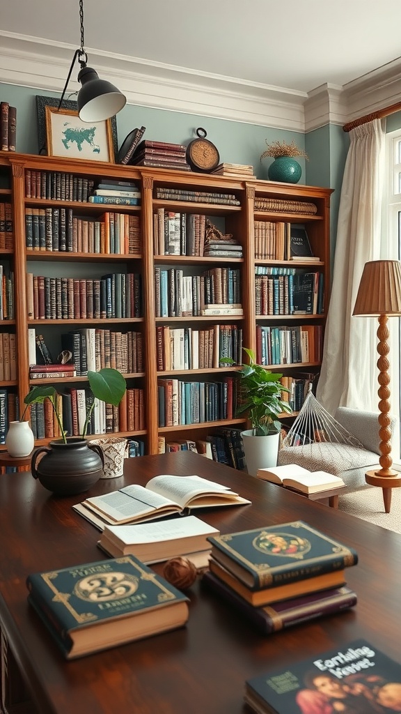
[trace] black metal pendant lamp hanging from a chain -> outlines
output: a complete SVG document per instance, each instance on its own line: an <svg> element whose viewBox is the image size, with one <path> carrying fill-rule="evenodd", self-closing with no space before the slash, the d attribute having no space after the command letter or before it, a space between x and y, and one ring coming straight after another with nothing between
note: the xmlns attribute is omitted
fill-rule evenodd
<svg viewBox="0 0 401 714"><path fill-rule="evenodd" d="M59 109L66 94L68 82L76 59L81 65L78 74L78 81L81 82L81 89L78 91L76 103L78 104L78 114L82 121L104 121L110 119L126 105L126 97L121 94L111 82L106 79L99 79L97 72L86 66L88 56L83 49L83 0L79 0L79 19L81 22L81 47L75 51L71 67L68 72L63 94L61 95Z"/></svg>

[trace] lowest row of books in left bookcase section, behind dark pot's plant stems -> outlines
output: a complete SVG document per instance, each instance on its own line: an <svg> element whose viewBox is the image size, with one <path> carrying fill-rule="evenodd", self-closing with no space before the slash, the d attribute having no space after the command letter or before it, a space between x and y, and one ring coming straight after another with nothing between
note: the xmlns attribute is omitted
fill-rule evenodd
<svg viewBox="0 0 401 714"><path fill-rule="evenodd" d="M86 411L95 406L88 424L87 433L104 434L144 429L144 401L142 389L127 389L121 403L116 407L93 397L89 389L71 388L57 394L58 411L62 415L66 436L80 436L86 419ZM49 399L31 405L31 429L36 439L59 438L61 431Z"/></svg>

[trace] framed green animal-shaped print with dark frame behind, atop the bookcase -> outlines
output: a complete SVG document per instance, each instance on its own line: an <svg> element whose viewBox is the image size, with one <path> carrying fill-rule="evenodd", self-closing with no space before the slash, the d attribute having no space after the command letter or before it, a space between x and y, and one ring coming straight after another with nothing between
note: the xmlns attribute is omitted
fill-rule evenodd
<svg viewBox="0 0 401 714"><path fill-rule="evenodd" d="M116 117L81 121L75 101L36 96L39 154L113 163L118 152Z"/></svg>

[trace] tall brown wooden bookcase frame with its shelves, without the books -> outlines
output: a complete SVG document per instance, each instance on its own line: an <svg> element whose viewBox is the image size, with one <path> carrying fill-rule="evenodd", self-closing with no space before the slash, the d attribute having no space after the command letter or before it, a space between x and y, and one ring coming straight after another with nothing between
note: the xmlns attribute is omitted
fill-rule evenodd
<svg viewBox="0 0 401 714"><path fill-rule="evenodd" d="M14 331L18 345L16 355L17 381L2 382L1 386L10 388L19 396L22 403L29 388L34 383L43 383L44 380L29 379L28 358L28 329L39 328L54 335L57 341L64 331L73 331L86 327L109 329L115 331L140 331L143 339L144 365L141 373L126 374L129 388L142 388L145 405L145 429L131 433L133 437L141 437L146 443L146 453L158 453L158 437L167 436L172 439L205 438L213 432L213 428L221 426L245 426L245 420L233 418L228 420L218 419L205 423L181 424L176 426L159 426L158 421L158 379L177 378L192 381L222 381L229 373L235 373L235 368L195 368L187 370L158 370L158 353L156 344L156 327L167 324L171 328L191 327L196 330L210 328L215 324L232 324L242 329L243 346L253 348L257 346L257 325L318 325L323 332L325 326L325 313L312 315L268 315L255 314L255 268L257 266L277 266L305 268L305 270L318 271L324 279L324 304L327 311L330 290L330 189L312 186L298 186L287 183L273 183L270 181L257 181L255 179L240 180L225 176L211 176L196 174L172 169L150 169L147 167L121 166L105 164L100 161L85 161L80 159L64 159L55 156L34 156L28 154L9 154L0 152L1 175L9 176L9 188L1 189L0 201L12 203L12 218L14 224L14 247L1 249L0 262L6 261L14 271L15 295L14 315L12 321L2 321L0 331ZM72 174L78 178L96 181L98 178L118 178L119 180L136 181L141 188L141 206L122 206L111 204L96 204L82 201L61 201L46 198L26 198L26 172L61 172ZM218 205L198 201L164 200L157 198L158 189L176 188L185 191L210 191L216 193L233 194L239 205ZM313 203L316 207L314 215L304 215L294 211L255 211L255 201L258 198L277 198L288 201L302 201ZM141 251L138 253L102 254L87 252L58 252L41 250L35 251L26 247L26 208L71 208L73 214L79 217L92 217L98 220L106 211L113 213L126 213L130 216L139 216L141 221ZM158 209L177 213L198 213L207 216L222 231L231 233L242 246L242 258L228 258L217 256L188 256L188 255L160 255L155 254L153 242L153 216ZM255 258L255 231L254 221L287 221L305 225L308 237L320 261L308 263L307 261L278 261L275 259ZM85 271L92 271L91 275L107 271L107 263L112 270L123 273L139 273L142 287L142 313L135 318L69 318L69 319L32 319L28 317L26 306L27 273L34 272L41 275L41 269L46 268L51 274L49 264L57 269L57 275L65 270L66 276L71 271L78 271L78 277L85 275ZM68 268L64 266L68 263ZM47 267L46 267L47 266ZM56 268L56 266L58 266ZM156 288L155 268L166 267L180 268L187 275L200 274L208 268L235 268L240 271L242 316L156 316ZM93 273L94 271L94 273ZM268 365L275 371L285 375L296 376L297 373L317 373L320 361L310 359L305 363L287 363ZM57 380L57 383L66 383L71 386L74 382L80 387L85 383L84 377L66 378ZM56 380L55 380L56 382ZM51 380L49 380L51 383ZM193 436L196 433L196 436ZM126 436L126 432L121 432ZM47 440L49 441L49 440ZM46 443L46 439L38 440Z"/></svg>

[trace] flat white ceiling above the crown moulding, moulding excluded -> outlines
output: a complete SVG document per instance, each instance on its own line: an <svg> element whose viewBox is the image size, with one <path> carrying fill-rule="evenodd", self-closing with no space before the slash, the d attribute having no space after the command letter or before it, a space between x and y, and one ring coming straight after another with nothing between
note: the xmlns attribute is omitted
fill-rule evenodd
<svg viewBox="0 0 401 714"><path fill-rule="evenodd" d="M83 0L87 48L309 92L401 55L400 0ZM79 46L78 0L1 0L0 27Z"/></svg>

